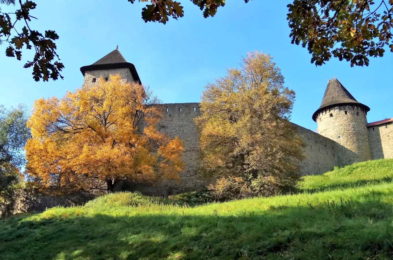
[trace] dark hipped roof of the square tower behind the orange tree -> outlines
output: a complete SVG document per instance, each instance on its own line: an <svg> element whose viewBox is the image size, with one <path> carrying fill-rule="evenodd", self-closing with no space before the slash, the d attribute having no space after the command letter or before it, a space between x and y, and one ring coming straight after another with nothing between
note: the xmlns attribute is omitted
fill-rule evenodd
<svg viewBox="0 0 393 260"><path fill-rule="evenodd" d="M84 73L89 70L111 70L120 68L128 68L134 81L141 84L141 80L138 72L136 72L134 64L127 62L117 48L94 62L92 65L83 66L81 68L81 72L84 76Z"/></svg>

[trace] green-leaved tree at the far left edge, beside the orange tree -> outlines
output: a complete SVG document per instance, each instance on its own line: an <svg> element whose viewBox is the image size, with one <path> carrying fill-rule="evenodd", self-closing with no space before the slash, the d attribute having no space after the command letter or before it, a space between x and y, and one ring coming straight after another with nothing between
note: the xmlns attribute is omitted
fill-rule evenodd
<svg viewBox="0 0 393 260"><path fill-rule="evenodd" d="M0 198L20 179L20 167L25 163L22 149L30 137L22 106L6 110L0 105Z"/></svg>

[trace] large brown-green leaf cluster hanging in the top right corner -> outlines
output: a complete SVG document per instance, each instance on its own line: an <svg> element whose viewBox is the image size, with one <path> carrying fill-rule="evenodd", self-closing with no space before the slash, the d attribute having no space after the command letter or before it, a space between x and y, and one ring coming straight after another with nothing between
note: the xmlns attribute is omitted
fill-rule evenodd
<svg viewBox="0 0 393 260"><path fill-rule="evenodd" d="M351 66L393 52L393 0L294 0L287 19L292 43L307 46L320 66L336 57Z"/></svg>

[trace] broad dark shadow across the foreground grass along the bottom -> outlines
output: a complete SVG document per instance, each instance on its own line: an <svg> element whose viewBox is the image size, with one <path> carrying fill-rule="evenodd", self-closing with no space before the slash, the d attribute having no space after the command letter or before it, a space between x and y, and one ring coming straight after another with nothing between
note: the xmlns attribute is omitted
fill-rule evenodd
<svg viewBox="0 0 393 260"><path fill-rule="evenodd" d="M215 210L204 215L60 215L39 221L17 216L0 220L0 258L392 259L393 210L381 202L383 196L369 192L361 203L272 206L236 216Z"/></svg>

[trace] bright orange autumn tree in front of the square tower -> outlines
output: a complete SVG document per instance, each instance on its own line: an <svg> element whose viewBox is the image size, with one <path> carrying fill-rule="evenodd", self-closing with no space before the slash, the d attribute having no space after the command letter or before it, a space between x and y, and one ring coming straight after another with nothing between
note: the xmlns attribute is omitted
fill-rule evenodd
<svg viewBox="0 0 393 260"><path fill-rule="evenodd" d="M112 191L121 180L178 179L182 141L160 134L151 92L119 75L35 101L25 150L29 176L44 188Z"/></svg>

